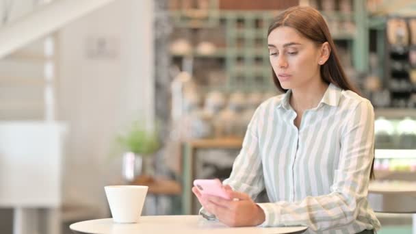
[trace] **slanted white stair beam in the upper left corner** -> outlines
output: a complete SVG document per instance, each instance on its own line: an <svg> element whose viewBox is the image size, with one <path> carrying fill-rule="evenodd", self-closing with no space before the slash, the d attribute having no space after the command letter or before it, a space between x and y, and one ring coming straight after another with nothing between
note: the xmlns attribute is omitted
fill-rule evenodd
<svg viewBox="0 0 416 234"><path fill-rule="evenodd" d="M28 6L21 6L26 10L14 11L14 7L18 7L17 3L27 1L0 0L2 3L0 10L3 12L3 26L0 27L0 57L47 36L70 21L112 1L114 0L33 0L38 4L32 5L31 10L27 10ZM12 12L19 13L12 17Z"/></svg>

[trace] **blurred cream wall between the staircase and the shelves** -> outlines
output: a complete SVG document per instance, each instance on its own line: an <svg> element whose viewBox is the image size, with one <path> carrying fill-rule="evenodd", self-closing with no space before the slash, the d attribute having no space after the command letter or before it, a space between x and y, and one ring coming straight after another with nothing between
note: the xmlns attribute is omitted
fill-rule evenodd
<svg viewBox="0 0 416 234"><path fill-rule="evenodd" d="M115 57L87 56L88 38L110 38ZM153 121L153 1L110 3L59 33L59 119L68 123L64 201L104 208L119 179L114 134L133 118ZM108 169L111 170L108 170Z"/></svg>

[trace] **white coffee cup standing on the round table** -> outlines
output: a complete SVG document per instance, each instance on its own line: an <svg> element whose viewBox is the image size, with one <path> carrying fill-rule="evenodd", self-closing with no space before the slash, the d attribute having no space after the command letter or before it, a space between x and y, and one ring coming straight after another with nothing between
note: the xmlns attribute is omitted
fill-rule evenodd
<svg viewBox="0 0 416 234"><path fill-rule="evenodd" d="M114 222L133 223L139 221L148 190L147 186L105 186L104 190Z"/></svg>

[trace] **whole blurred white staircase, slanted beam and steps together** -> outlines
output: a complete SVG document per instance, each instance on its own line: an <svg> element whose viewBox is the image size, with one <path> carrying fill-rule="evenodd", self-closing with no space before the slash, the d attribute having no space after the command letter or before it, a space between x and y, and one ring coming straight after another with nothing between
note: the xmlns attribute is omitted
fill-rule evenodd
<svg viewBox="0 0 416 234"><path fill-rule="evenodd" d="M54 31L114 0L0 0L0 120L55 120Z"/></svg>

